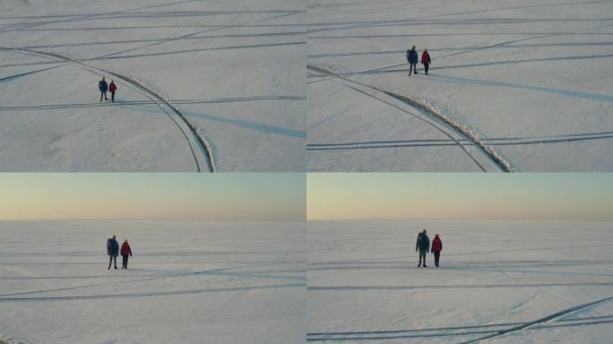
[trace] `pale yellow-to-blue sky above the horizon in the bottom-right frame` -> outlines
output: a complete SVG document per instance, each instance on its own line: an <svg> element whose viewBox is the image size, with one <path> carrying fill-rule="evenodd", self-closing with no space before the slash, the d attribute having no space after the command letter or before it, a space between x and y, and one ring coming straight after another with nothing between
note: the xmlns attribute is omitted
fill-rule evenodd
<svg viewBox="0 0 613 344"><path fill-rule="evenodd" d="M613 220L613 174L308 174L307 219Z"/></svg>

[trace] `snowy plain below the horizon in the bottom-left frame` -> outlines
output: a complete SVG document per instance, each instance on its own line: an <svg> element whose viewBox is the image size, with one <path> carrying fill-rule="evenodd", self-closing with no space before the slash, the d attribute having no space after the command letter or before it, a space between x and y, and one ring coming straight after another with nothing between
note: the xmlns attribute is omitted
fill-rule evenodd
<svg viewBox="0 0 613 344"><path fill-rule="evenodd" d="M26 221L0 233L0 343L304 341L304 222ZM128 271L107 270L113 234L130 241Z"/></svg>

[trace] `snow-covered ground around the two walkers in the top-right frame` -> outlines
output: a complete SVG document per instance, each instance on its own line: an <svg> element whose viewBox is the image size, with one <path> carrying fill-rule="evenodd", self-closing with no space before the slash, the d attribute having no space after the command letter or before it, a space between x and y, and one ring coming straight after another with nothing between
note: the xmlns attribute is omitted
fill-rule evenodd
<svg viewBox="0 0 613 344"><path fill-rule="evenodd" d="M309 171L613 171L611 1L308 0L307 51Z"/></svg>

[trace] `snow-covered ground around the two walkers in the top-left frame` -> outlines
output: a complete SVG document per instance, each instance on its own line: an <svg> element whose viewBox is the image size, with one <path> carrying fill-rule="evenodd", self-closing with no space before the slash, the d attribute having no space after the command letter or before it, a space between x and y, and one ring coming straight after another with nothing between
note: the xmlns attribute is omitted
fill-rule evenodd
<svg viewBox="0 0 613 344"><path fill-rule="evenodd" d="M0 171L304 171L305 13L300 0L0 1ZM101 76L114 104L99 103Z"/></svg>

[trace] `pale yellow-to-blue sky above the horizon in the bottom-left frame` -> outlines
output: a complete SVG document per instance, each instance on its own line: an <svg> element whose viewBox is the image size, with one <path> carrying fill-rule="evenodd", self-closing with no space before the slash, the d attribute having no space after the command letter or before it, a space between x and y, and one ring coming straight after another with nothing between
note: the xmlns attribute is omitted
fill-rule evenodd
<svg viewBox="0 0 613 344"><path fill-rule="evenodd" d="M304 174L0 174L2 219L304 220Z"/></svg>

